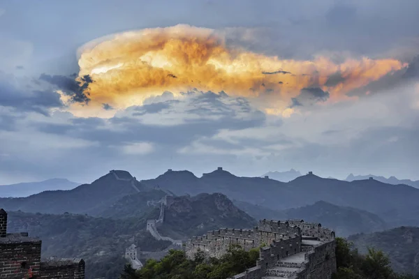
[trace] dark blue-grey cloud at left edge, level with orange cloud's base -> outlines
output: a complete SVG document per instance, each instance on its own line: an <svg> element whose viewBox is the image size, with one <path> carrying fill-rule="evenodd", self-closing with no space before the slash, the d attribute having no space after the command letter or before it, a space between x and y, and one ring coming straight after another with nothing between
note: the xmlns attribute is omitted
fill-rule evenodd
<svg viewBox="0 0 419 279"><path fill-rule="evenodd" d="M21 112L38 112L47 116L48 109L62 107L58 93L52 91L31 91L20 89L13 76L0 73L0 106L11 107Z"/></svg>

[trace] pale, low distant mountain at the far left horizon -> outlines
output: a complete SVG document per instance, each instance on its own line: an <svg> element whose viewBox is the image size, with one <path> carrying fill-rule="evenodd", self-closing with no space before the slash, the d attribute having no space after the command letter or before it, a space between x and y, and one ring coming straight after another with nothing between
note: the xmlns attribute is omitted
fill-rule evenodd
<svg viewBox="0 0 419 279"><path fill-rule="evenodd" d="M80 183L68 179L48 179L39 182L26 182L0 185L0 197L28 197L47 190L71 190Z"/></svg>

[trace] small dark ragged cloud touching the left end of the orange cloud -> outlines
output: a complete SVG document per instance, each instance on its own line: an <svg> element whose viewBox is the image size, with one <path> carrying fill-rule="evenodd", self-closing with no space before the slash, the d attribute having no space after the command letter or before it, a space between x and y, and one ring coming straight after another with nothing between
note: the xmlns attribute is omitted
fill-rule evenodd
<svg viewBox="0 0 419 279"><path fill-rule="evenodd" d="M89 75L84 75L82 82L65 75L46 75L45 73L39 79L57 86L57 89L63 91L67 96L71 96L71 100L75 103L89 103L90 98L87 89L89 84L93 82Z"/></svg>

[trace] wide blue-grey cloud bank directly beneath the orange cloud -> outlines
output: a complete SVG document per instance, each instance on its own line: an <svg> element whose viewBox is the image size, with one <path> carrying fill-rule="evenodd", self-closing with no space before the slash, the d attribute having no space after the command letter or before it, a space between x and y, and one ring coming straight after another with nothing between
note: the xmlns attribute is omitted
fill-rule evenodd
<svg viewBox="0 0 419 279"><path fill-rule="evenodd" d="M73 118L69 123L38 123L38 130L71 135L82 140L101 142L103 146L123 146L135 142L154 142L178 148L198 137L210 137L221 129L240 130L260 126L265 114L251 107L244 98L230 98L225 92L193 92L186 100L166 100L149 105L128 107L124 114L109 120ZM186 107L186 110L184 108ZM142 123L142 116L180 117L175 125Z"/></svg>

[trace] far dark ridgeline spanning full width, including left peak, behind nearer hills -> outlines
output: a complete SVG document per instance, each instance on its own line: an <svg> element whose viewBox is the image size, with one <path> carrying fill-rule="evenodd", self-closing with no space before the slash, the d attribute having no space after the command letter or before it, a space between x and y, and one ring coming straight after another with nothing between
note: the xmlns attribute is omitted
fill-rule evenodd
<svg viewBox="0 0 419 279"><path fill-rule="evenodd" d="M222 193L229 199L274 211L323 201L374 213L390 227L419 225L419 189L411 186L395 186L374 179L351 182L323 179L312 173L284 183L269 178L235 176L221 168L200 178L188 171L170 170L156 179L143 181L137 181L129 172L119 170L73 190L45 191L30 197L0 198L0 204L13 211L71 212L98 216L123 197L150 191L160 192L147 195L161 196L163 192L179 196Z"/></svg>

